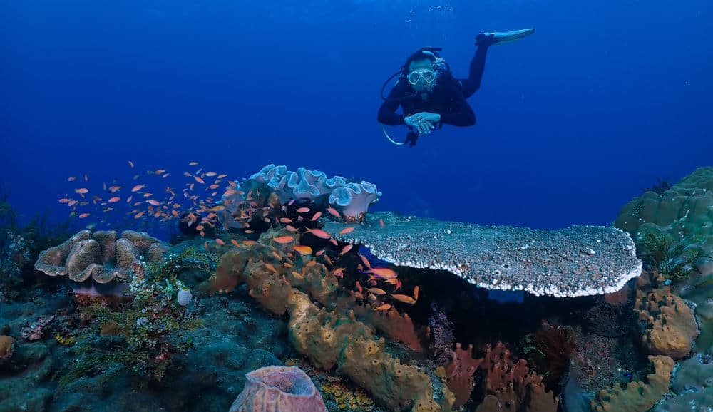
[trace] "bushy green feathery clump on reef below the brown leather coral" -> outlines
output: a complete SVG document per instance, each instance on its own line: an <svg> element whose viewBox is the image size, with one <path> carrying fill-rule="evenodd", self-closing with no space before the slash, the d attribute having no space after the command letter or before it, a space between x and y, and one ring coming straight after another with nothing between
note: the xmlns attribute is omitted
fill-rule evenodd
<svg viewBox="0 0 713 412"><path fill-rule="evenodd" d="M183 282L175 277L157 281L138 263L132 269L130 307L112 310L95 304L82 309L81 317L88 324L71 346L76 357L67 365L60 388L105 369L112 374L132 371L144 380L141 384L161 381L175 357L193 347L186 334L202 326L202 321L178 302L178 294L185 290ZM104 339L96 339L97 335Z"/></svg>

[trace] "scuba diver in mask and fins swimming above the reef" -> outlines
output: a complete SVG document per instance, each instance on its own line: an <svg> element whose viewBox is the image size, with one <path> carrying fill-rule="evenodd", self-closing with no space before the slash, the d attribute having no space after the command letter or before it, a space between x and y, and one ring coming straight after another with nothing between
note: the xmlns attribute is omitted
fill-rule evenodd
<svg viewBox="0 0 713 412"><path fill-rule="evenodd" d="M416 145L421 134L440 129L443 124L472 126L476 115L466 99L481 87L481 79L486 66L486 52L493 44L512 43L533 34L535 29L507 31L503 33L481 33L476 36L476 54L471 61L468 78L456 79L448 63L438 56L441 48L422 47L406 59L404 66L386 79L381 86L384 103L379 108L378 120L386 138L395 145L409 143ZM384 97L384 88L392 78L399 76ZM396 113L401 106L402 113ZM409 133L403 143L391 139L384 125L407 125Z"/></svg>

